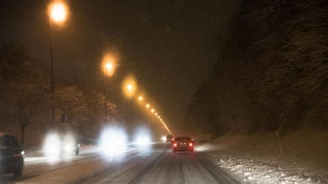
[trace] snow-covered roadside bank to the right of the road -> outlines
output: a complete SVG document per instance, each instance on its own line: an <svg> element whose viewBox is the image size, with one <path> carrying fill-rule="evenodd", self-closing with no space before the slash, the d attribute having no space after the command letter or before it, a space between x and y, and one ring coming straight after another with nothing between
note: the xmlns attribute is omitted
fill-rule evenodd
<svg viewBox="0 0 328 184"><path fill-rule="evenodd" d="M282 137L283 155L274 134L226 135L195 149L247 183L328 183L327 136L322 131Z"/></svg>

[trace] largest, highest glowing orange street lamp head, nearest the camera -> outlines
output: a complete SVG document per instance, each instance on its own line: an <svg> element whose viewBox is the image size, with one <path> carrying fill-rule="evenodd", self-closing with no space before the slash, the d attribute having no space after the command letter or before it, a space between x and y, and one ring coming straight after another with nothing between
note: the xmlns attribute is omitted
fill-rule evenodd
<svg viewBox="0 0 328 184"><path fill-rule="evenodd" d="M55 22L63 22L67 18L68 10L67 6L60 1L51 3L49 8L51 19Z"/></svg>

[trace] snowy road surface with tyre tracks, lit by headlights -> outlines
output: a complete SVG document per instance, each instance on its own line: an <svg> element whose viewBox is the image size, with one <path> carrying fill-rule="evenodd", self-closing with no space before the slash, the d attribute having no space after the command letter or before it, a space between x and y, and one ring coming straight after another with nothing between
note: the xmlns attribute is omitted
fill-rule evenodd
<svg viewBox="0 0 328 184"><path fill-rule="evenodd" d="M170 144L129 147L124 156L107 158L97 149L81 151L48 163L46 158L27 158L24 176L0 177L1 182L23 183L238 183L208 158L195 152L172 154Z"/></svg>

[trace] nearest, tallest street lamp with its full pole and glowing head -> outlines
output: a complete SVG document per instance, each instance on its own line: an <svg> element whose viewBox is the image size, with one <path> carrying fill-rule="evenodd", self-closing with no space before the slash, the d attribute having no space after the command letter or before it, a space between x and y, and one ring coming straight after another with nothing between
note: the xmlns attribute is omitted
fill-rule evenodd
<svg viewBox="0 0 328 184"><path fill-rule="evenodd" d="M51 61L51 118L55 122L55 107L53 104L54 81L53 81L53 21L60 24L66 20L68 10L63 2L53 2L48 6L50 23L50 61Z"/></svg>

